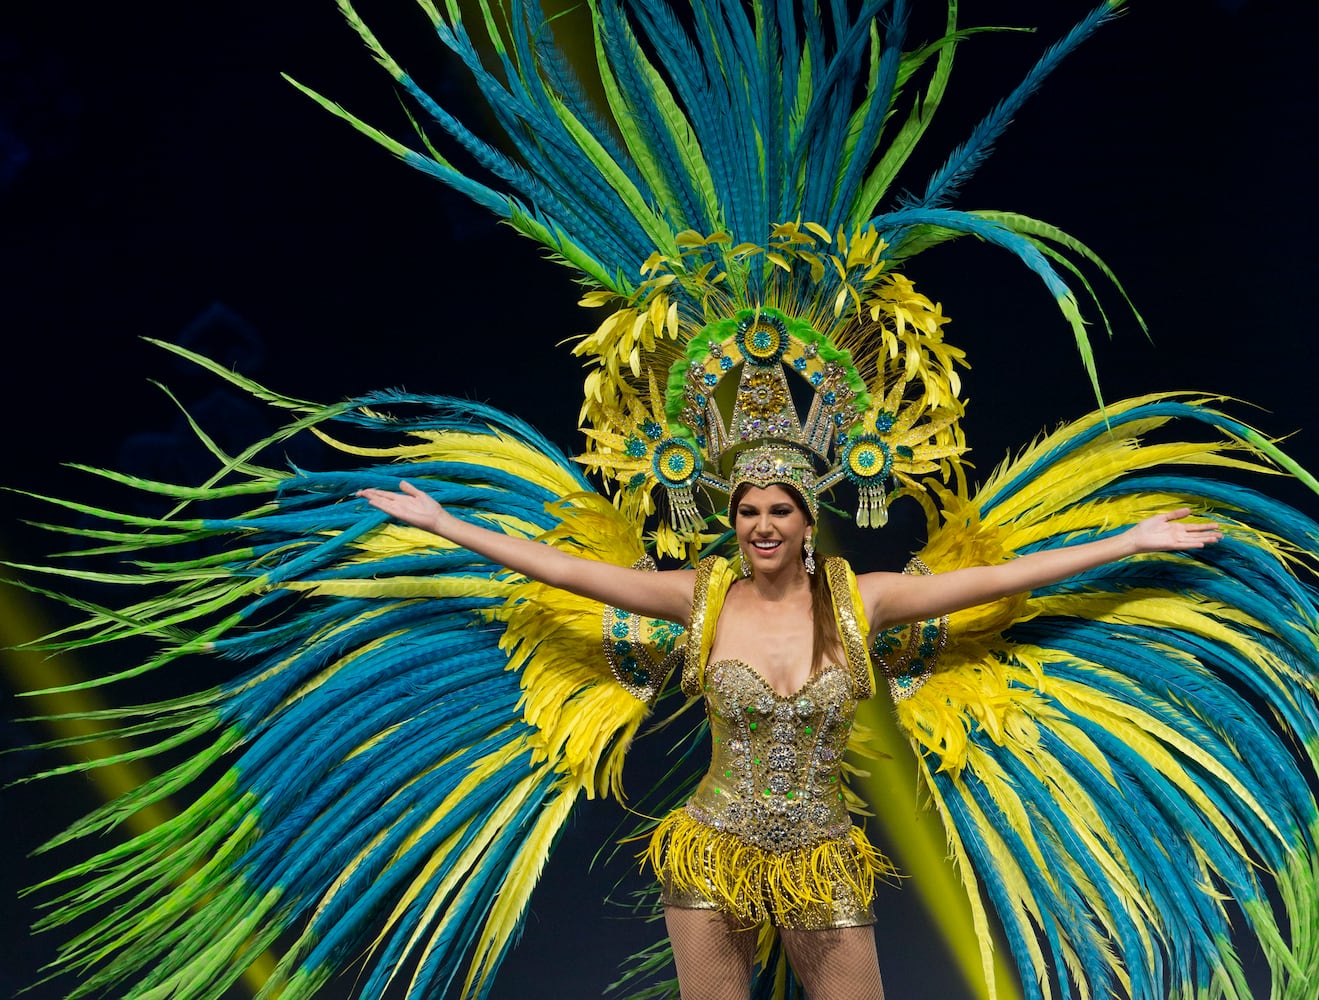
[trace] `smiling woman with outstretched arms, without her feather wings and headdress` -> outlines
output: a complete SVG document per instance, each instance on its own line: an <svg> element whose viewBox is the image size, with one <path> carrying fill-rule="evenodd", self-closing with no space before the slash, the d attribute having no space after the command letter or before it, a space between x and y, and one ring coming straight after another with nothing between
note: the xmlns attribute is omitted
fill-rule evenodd
<svg viewBox="0 0 1319 1000"><path fill-rule="evenodd" d="M803 720L810 723L805 726L813 737L810 745L826 747L828 766L818 774L811 772L814 778L807 778L807 784L836 781L840 756L828 752L824 727L814 722L819 716L816 710L826 718L832 711L840 719L834 723L835 734L845 744L855 698L871 693L847 669L855 657L845 649L849 624L847 613L840 613L842 586L859 599L865 620L856 624L865 635L1030 591L1128 555L1199 549L1217 542L1223 534L1216 524L1187 522L1190 509L1182 508L1149 517L1120 534L996 566L927 577L867 573L853 578L842 561L831 561L843 570L839 577L816 571L813 533L818 503L813 479L791 464L778 468L780 475L766 478L754 475L751 463L739 462L735 467L728 518L740 549L740 577L723 559L703 561L698 570L662 573L582 559L462 521L406 482L400 484L401 492L364 489L360 496L410 525L543 583L641 615L687 623L683 685L704 694L711 731L716 743L723 740L723 744L715 748L711 769L691 802L661 823L652 844L685 997L748 995L756 946L753 930L761 917L778 926L789 960L813 1000L882 997L869 926L871 896L874 876L890 869L859 830L836 835L839 821L845 822L845 809L838 797L832 810L815 823L818 834L834 828L834 839L805 846L816 859L826 859L823 875L819 864L814 875L789 871L783 876L780 869L781 884L768 885L773 879L766 879L758 868L751 877L751 869L728 872L725 855L718 847L721 838L754 840L757 831L766 828L764 810L760 819L748 815L756 811L752 806L758 805L758 796L754 799L754 792L739 796L741 776L733 761L737 752L728 744L739 735L754 743L757 737L748 731L756 730L765 737L764 731L772 726L757 730L754 722L741 718L741 711L736 720L729 719L725 702L729 697L736 702L737 690L745 690L748 683L768 687L773 699L766 707L773 710L773 718L790 716L798 732ZM824 609L832 613L822 613ZM797 704L809 707L810 715L798 715ZM748 704L745 712L753 719L756 708ZM794 737L781 744L793 748L790 756L797 753L798 772L803 763L822 763L818 757L803 761L809 755L799 753L801 743ZM754 777L765 773L764 766L748 764L747 769L749 777L752 772ZM793 769L789 765L783 773ZM764 789L766 802L785 803L778 810L781 817L793 814L798 805L793 796L810 798L809 789L789 788L790 784ZM828 799L818 796L818 801ZM739 822L729 819L731 810L736 810ZM719 830L711 834L708 823L718 823ZM704 834L696 834L702 850L695 852L695 863L692 852L685 850L692 827L704 827ZM828 850L822 855L820 848ZM786 854L802 850L802 844L794 844ZM739 858L756 859L758 854L754 848L744 850ZM756 883L749 897L748 881Z"/></svg>

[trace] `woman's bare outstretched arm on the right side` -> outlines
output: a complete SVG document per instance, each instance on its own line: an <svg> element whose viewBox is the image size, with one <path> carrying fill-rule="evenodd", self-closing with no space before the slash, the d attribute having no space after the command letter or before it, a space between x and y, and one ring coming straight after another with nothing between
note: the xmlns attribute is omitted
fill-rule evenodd
<svg viewBox="0 0 1319 1000"><path fill-rule="evenodd" d="M871 628L921 621L1058 583L1078 573L1146 551L1203 549L1223 538L1219 525L1183 521L1190 508L1154 515L1121 534L1031 553L995 566L971 566L930 577L867 573L857 578Z"/></svg>

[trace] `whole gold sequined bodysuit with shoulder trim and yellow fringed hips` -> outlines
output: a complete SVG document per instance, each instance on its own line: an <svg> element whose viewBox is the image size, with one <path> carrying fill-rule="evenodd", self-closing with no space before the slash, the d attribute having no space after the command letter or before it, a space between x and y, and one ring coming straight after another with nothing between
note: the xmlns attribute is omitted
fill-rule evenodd
<svg viewBox="0 0 1319 1000"><path fill-rule="evenodd" d="M721 567L715 569L714 582L698 578L692 641L712 627L727 591ZM844 583L844 575L831 579L835 594ZM847 637L851 653L857 644ZM708 642L702 645L708 650ZM855 666L828 666L789 697L740 660L685 670L685 687L700 677L711 763L687 805L652 836L665 905L724 910L747 925L822 929L874 921L874 877L893 869L852 825L843 797Z"/></svg>

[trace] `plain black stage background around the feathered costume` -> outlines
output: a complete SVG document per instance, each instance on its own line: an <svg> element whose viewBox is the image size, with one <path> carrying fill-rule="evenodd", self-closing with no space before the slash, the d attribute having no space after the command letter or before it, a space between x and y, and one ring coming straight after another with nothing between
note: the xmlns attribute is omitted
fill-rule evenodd
<svg viewBox="0 0 1319 1000"><path fill-rule="evenodd" d="M360 8L405 66L463 106L463 84L445 77L414 5ZM905 178L913 187L1086 5L967 0L962 9L967 24L1041 32L963 47L927 158ZM1101 286L1117 330L1104 343L1092 327L1109 398L1199 389L1248 400L1260 406L1248 418L1269 433L1307 427L1289 447L1310 467L1319 466L1316 24L1310 3L1136 3L1026 107L960 201L1054 223L1117 270L1153 343ZM575 307L570 274L317 108L281 71L405 131L388 78L328 0L5 5L3 484L99 489L65 460L199 470L198 450L148 379L170 385L222 434L253 426L212 379L142 336L189 343L302 398L405 385L487 400L578 449L580 371L559 342L598 317ZM906 272L943 303L948 338L969 351L966 427L983 471L1092 406L1064 322L1014 260L966 241ZM1319 508L1290 484L1278 489L1311 513ZM8 558L53 547L16 520L36 513L30 503L4 495L0 504ZM40 627L34 613L25 623ZM4 743L20 747L34 734L12 722L24 710L16 682L7 683L0 724ZM12 753L0 757L0 773L13 780L50 763ZM78 778L0 798L0 914L11 942L0 995L32 982L50 949L29 941L33 906L15 893L53 863L26 855L94 801ZM570 830L496 996L598 995L646 939L600 905L611 875L586 872L617 821L612 806L592 803ZM942 954L925 947L930 931L914 894L886 894L881 912L890 995L964 995L947 984Z"/></svg>

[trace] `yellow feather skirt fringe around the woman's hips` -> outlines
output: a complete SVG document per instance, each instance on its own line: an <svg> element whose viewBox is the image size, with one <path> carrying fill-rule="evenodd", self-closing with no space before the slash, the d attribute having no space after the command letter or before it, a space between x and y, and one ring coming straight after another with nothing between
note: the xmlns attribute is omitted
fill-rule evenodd
<svg viewBox="0 0 1319 1000"><path fill-rule="evenodd" d="M873 922L874 880L898 871L860 827L814 847L769 851L675 809L650 835L646 859L666 894L695 896L745 926L815 930Z"/></svg>

